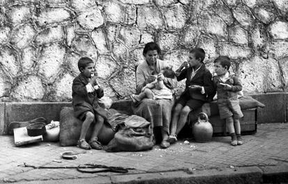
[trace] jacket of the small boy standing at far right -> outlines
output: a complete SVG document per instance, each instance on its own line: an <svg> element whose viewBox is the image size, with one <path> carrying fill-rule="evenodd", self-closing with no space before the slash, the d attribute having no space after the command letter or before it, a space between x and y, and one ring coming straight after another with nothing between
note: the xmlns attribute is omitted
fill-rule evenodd
<svg viewBox="0 0 288 184"><path fill-rule="evenodd" d="M232 97L237 98L237 92L242 90L242 85L235 74L229 72L229 78L227 81L221 81L219 76L213 77L214 87L217 89L217 99L230 99ZM231 90L224 90L223 85L220 83L225 83L232 86Z"/></svg>

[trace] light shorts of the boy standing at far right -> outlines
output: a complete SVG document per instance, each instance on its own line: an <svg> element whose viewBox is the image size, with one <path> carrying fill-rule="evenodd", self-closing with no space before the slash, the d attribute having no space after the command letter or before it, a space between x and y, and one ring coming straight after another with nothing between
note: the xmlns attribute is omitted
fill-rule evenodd
<svg viewBox="0 0 288 184"><path fill-rule="evenodd" d="M226 119L227 117L232 116L237 119L243 117L238 99L218 99L217 104L221 119Z"/></svg>

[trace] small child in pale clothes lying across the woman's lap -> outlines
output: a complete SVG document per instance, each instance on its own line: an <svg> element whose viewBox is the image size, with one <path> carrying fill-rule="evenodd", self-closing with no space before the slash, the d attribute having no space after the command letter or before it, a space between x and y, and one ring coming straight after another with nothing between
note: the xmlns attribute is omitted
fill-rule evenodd
<svg viewBox="0 0 288 184"><path fill-rule="evenodd" d="M175 78L175 72L172 69L164 69L163 76L166 78ZM173 99L172 91L166 87L161 77L157 77L157 80L145 85L140 94L131 94L131 99L134 103L141 101L142 99Z"/></svg>

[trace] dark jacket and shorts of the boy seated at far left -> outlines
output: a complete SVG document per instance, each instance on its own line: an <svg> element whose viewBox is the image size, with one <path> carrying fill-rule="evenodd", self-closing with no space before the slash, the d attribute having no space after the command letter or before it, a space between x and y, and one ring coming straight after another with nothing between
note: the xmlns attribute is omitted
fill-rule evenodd
<svg viewBox="0 0 288 184"><path fill-rule="evenodd" d="M106 110L101 108L98 104L98 99L104 96L102 88L95 90L94 92L87 92L86 85L88 84L88 78L82 73L79 74L73 80L72 84L72 106L74 108L74 114L78 117L78 113L83 112L83 108L94 111L106 119ZM82 109L79 109L82 108Z"/></svg>

